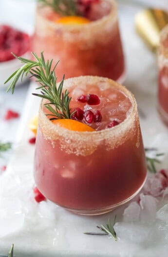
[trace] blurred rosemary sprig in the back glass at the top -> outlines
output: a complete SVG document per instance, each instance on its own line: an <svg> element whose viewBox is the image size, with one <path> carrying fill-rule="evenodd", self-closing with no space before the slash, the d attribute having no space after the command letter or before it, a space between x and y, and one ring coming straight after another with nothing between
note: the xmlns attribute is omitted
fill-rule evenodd
<svg viewBox="0 0 168 257"><path fill-rule="evenodd" d="M77 0L38 0L38 2L50 6L56 13L63 16L79 15Z"/></svg>

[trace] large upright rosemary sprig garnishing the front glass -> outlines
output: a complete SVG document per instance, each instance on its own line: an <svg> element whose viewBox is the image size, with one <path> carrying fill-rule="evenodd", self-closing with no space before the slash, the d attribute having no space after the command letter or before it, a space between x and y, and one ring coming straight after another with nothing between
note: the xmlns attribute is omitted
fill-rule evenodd
<svg viewBox="0 0 168 257"><path fill-rule="evenodd" d="M52 113L50 114L50 116L53 116L52 119L71 118L71 116L73 115L73 113L70 113L71 97L69 97L69 92L67 90L65 90L64 93L62 92L64 76L59 86L57 87L56 85L57 77L55 69L58 62L52 70L51 66L53 63L53 59L51 61L47 60L47 62L45 62L43 52L41 52L40 57L38 57L36 53L32 52L35 61L18 57L15 54L13 55L18 58L24 65L16 70L5 81L5 83L11 81L10 85L8 86L7 92L11 90L12 93L14 93L15 86L19 78L21 78L22 80L23 75L27 76L30 72L32 77L35 77L37 79L36 81L39 83L39 86L36 89L41 91L41 93L33 94L48 100L45 104L45 107Z"/></svg>

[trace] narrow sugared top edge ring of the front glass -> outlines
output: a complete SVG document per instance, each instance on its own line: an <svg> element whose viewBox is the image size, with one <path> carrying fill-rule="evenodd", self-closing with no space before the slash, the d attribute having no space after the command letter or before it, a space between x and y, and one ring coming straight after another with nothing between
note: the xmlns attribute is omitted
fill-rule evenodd
<svg viewBox="0 0 168 257"><path fill-rule="evenodd" d="M87 136L88 137L97 137L97 139L99 138L100 140L102 140L102 138L106 138L107 134L118 134L119 131L123 130L123 128L126 128L130 130L130 124L133 122L136 114L137 114L137 104L136 104L136 100L134 98L134 95L124 86L122 86L121 84L113 81L112 79L108 79L108 78L104 78L104 77L98 77L98 76L79 76L79 77L74 77L74 78L69 78L66 79L64 81L64 85L63 85L63 89L69 89L72 86L78 85L80 82L82 81L86 81L86 84L97 84L99 82L107 82L108 84L111 84L113 87L117 88L119 91L125 93L129 99L131 100L132 103L132 107L131 107L131 112L128 115L127 118L125 118L124 121L122 121L120 124L118 124L117 126L114 126L112 128L108 128L108 129L102 129L102 130L98 130L98 131L93 131L93 132L88 132L88 131L72 131L72 130L68 130L66 128L62 128L59 125L54 124L43 112L43 108L42 108L42 102L44 100L41 100L40 103L40 107L39 107L39 119L42 123L45 123L46 126L49 126L50 129L56 133L59 134L60 136L68 136L68 135L73 135L75 137L80 137L81 136Z"/></svg>

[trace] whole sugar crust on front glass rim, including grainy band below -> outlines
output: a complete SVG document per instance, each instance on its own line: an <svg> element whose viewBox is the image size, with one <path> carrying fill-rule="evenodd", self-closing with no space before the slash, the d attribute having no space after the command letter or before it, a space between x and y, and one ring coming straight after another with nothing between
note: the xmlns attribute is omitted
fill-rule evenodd
<svg viewBox="0 0 168 257"><path fill-rule="evenodd" d="M96 85L100 82L107 82L119 91L125 93L132 103L132 108L128 117L121 122L119 125L112 128L103 129L100 131L93 132L78 132L72 131L60 127L54 124L43 112L43 101L39 107L39 133L43 134L46 140L56 141L59 140L61 147L65 149L69 143L68 153L75 153L76 155L88 155L93 152L102 140L108 150L113 149L121 145L126 140L133 137L135 129L137 130L137 141L136 146L139 147L139 118L137 111L137 104L133 94L124 86L113 81L109 78L98 77L98 76L80 76L69 78L64 81L64 89L71 88L72 86L78 85L86 81L86 84ZM93 143L92 143L93 142ZM83 147L85 146L85 150ZM83 151L83 152L81 152ZM89 153L88 153L89 152Z"/></svg>

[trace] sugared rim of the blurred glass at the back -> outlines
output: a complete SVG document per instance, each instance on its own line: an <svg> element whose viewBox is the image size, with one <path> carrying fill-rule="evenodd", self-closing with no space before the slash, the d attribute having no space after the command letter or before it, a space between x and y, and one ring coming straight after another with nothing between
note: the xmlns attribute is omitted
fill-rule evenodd
<svg viewBox="0 0 168 257"><path fill-rule="evenodd" d="M117 4L114 0L105 0L107 2L111 3L111 10L110 13L108 15L103 16L101 19L95 20L95 21L91 21L90 23L84 23L84 24L61 24L61 23L55 23L53 21L48 20L47 18L43 17L43 20L45 20L46 24L49 24L51 27L53 27L54 29L62 29L62 30L66 30L66 31L72 31L75 32L79 31L79 30L85 30L85 29L91 29L91 28L95 28L96 26L102 26L102 22L103 23L107 23L109 21L115 21L116 17L117 17ZM38 6L41 6L40 3L38 3ZM37 10L38 12L38 10Z"/></svg>

